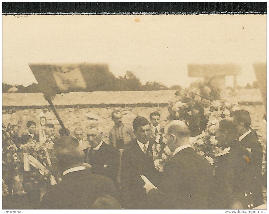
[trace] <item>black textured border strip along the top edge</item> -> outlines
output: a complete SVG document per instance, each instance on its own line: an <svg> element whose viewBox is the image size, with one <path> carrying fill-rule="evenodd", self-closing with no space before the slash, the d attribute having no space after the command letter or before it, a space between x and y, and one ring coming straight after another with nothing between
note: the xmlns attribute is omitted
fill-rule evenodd
<svg viewBox="0 0 269 214"><path fill-rule="evenodd" d="M3 2L3 15L20 14L266 14L266 2Z"/></svg>

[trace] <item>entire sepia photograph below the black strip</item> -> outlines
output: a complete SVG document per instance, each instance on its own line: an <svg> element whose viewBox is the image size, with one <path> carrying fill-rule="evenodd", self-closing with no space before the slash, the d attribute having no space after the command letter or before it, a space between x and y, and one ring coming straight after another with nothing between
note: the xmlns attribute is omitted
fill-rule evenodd
<svg viewBox="0 0 269 214"><path fill-rule="evenodd" d="M267 209L266 18L3 15L2 209Z"/></svg>

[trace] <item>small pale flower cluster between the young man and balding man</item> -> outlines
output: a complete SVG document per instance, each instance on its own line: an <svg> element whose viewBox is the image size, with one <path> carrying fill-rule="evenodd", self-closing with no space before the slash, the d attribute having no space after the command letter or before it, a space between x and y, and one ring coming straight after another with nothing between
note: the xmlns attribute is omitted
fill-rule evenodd
<svg viewBox="0 0 269 214"><path fill-rule="evenodd" d="M159 172L164 171L165 162L170 160L172 155L173 152L171 152L168 146L161 146L160 143L152 145L152 153L150 156L152 156L154 160L155 169Z"/></svg>

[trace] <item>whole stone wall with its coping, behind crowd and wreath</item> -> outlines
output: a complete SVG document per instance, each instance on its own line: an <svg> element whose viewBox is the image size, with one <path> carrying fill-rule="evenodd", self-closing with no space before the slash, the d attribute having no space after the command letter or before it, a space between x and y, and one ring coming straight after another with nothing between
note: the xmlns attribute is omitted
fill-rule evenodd
<svg viewBox="0 0 269 214"><path fill-rule="evenodd" d="M246 96L251 94L252 96ZM254 94L256 96L254 96ZM244 96L243 96L244 95ZM242 108L248 110L252 116L252 125L257 129L264 129L263 115L264 106L260 105L261 96L259 89L240 90L234 94L234 101L242 102ZM251 99L250 99L251 97ZM239 99L240 98L240 99ZM111 113L119 110L123 114L123 122L132 126L133 119L137 116L143 116L149 119L151 112L158 110L161 114L161 125L167 122L169 101L175 99L175 90L167 91L132 91L132 92L72 92L68 94L58 94L53 99L57 111L62 118L66 128L72 132L76 127L86 129L90 121L86 114L93 113L99 116L99 124L103 128L104 140L107 141L109 130L114 123L111 120ZM259 102L259 105L254 105ZM252 105L251 105L251 104ZM55 125L55 135L61 128L54 113L44 99L42 93L24 93L24 94L3 94L3 124L17 124L19 122L19 134L27 132L26 122L28 120L36 121L39 124L38 115L43 112L47 118L47 123ZM262 131L266 138L266 131Z"/></svg>

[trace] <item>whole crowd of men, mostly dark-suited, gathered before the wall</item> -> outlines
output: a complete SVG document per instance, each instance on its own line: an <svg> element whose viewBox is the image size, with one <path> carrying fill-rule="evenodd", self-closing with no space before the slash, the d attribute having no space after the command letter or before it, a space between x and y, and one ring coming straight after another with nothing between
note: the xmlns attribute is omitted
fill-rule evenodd
<svg viewBox="0 0 269 214"><path fill-rule="evenodd" d="M40 208L249 209L263 204L262 146L248 111L236 110L220 121L215 136L224 152L214 167L191 148L185 122L162 128L160 117L158 111L150 121L137 116L129 127L121 112L113 111L108 142L96 120L69 136L60 129L61 137L53 141L62 181L49 188ZM22 142L39 141L36 124L28 121L27 128ZM52 136L53 125L48 128ZM150 156L158 143L173 152L162 173Z"/></svg>

